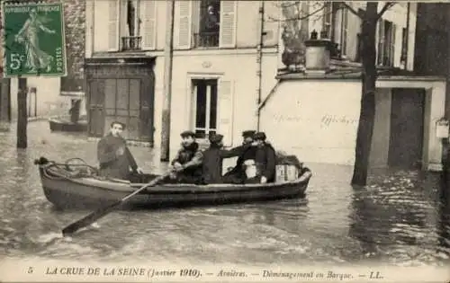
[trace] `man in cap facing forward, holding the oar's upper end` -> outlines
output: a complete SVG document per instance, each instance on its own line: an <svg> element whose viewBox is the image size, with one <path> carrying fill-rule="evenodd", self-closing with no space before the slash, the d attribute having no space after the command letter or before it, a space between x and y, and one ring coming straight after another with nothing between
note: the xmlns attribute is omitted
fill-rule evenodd
<svg viewBox="0 0 450 283"><path fill-rule="evenodd" d="M195 141L193 131L186 130L181 133L181 148L171 163L174 173L170 180L180 183L196 183L202 179L202 151Z"/></svg>

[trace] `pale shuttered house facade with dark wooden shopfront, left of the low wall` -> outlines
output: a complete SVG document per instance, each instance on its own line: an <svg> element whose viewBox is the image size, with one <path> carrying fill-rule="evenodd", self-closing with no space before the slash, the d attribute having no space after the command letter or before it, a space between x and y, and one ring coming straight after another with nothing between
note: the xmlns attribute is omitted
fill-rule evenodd
<svg viewBox="0 0 450 283"><path fill-rule="evenodd" d="M159 146L168 2L91 0L87 4L92 5L87 8L92 14L89 16L91 21L86 21L89 24L86 46L91 47L86 49L86 57L92 64L88 63L86 68L98 69L106 58L120 58L115 62L120 61L117 64L121 64L123 70L127 66L132 68L129 61L136 58L148 62L148 70L143 72L155 77L146 79L145 75L135 75L135 79L141 82L136 84L141 86L154 82L154 86L143 93L139 91L138 100L147 100L148 104L148 111L142 115L145 110L139 109L139 105L145 103L128 105L126 109L118 106L121 98L116 90L129 89L124 94L129 97L138 93L137 89L133 91L130 88L131 81L126 81L124 75L104 76L102 81L88 75L90 81L87 84L104 84L105 88L114 89L112 94L107 91L109 93L104 99L100 98L100 102L93 98L95 94L91 92L91 117L102 117L102 125L94 126L93 119L91 135L103 135L112 119L122 119L131 127L127 134L130 139ZM195 130L200 139L220 131L227 145L231 146L240 142L241 130L256 128L259 82L261 93L267 93L276 83L279 41L279 22L267 22L262 55L259 54L262 58L258 60L257 46L261 38L259 5L254 1L175 2L171 147L178 146L177 137L185 129ZM278 16L275 2L265 1L265 10L266 20ZM112 63L109 66L112 67ZM107 66L103 64L103 68ZM89 70L86 71L90 74ZM93 72L98 74L100 71ZM147 80L148 83L144 83ZM105 101L108 95L114 96L110 96L109 102ZM133 101L132 98L125 100ZM99 111L103 107L105 110ZM133 112L140 114L133 116ZM142 125L152 127L151 133L142 135L145 131Z"/></svg>

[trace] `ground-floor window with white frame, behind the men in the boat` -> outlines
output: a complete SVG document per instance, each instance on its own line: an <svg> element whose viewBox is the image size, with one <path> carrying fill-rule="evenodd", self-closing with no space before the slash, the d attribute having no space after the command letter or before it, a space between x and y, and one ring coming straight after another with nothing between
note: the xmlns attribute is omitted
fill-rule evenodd
<svg viewBox="0 0 450 283"><path fill-rule="evenodd" d="M195 137L208 138L217 130L217 80L194 79L192 85Z"/></svg>

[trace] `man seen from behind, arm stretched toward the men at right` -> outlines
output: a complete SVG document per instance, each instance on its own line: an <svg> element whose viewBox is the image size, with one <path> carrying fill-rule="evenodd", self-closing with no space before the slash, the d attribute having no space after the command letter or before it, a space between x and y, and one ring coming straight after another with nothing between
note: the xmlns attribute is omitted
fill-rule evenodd
<svg viewBox="0 0 450 283"><path fill-rule="evenodd" d="M242 155L242 146L229 150L223 149L223 136L213 134L209 137L210 147L203 151L202 184L220 183L222 178L222 161L224 158Z"/></svg>

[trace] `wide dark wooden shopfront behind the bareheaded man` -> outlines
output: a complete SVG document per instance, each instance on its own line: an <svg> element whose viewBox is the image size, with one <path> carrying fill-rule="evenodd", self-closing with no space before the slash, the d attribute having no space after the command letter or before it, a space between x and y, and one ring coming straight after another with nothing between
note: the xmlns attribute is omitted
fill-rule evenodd
<svg viewBox="0 0 450 283"><path fill-rule="evenodd" d="M93 60L91 58L91 60ZM94 60L100 60L95 58ZM103 59L108 60L108 59ZM113 60L110 58L113 62ZM137 60L137 59L135 59ZM87 65L88 133L103 137L112 121L126 125L123 137L153 143L155 74L152 62L127 58L121 66ZM129 62L127 62L129 61Z"/></svg>

